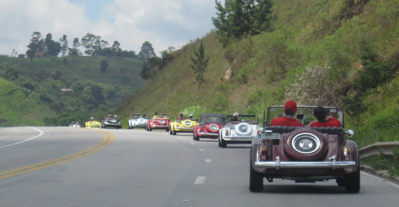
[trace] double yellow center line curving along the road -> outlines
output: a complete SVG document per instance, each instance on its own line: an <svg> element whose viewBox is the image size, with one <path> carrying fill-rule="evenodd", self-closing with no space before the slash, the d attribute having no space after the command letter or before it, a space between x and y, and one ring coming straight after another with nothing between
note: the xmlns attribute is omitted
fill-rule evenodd
<svg viewBox="0 0 399 207"><path fill-rule="evenodd" d="M56 164L61 164L61 163L64 163L64 162L75 160L77 158L82 158L82 157L88 156L89 154L93 154L93 153L105 148L106 146L108 146L109 144L111 144L114 141L114 135L113 134L108 133L108 132L102 132L102 131L98 131L98 132L101 132L101 133L104 134L103 140L99 144L96 144L95 146L93 146L93 147L91 147L91 148L89 148L87 150L83 150L83 151L78 152L76 154L65 156L65 157L62 157L62 158L55 159L55 160L50 160L50 161L38 163L38 164L35 164L35 165L30 165L30 166L26 166L26 167L14 169L14 170L8 170L6 172L1 172L0 173L0 179L4 179L4 178L7 178L7 177L12 177L12 176L15 176L15 175L20 175L20 174L27 173L27 172L32 172L32 171L35 171L35 170L40 170L42 168L47 168L49 166L53 166L53 165L56 165Z"/></svg>

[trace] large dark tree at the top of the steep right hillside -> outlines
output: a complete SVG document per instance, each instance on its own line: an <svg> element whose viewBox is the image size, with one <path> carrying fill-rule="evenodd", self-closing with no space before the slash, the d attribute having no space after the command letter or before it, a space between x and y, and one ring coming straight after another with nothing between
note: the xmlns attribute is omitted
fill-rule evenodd
<svg viewBox="0 0 399 207"><path fill-rule="evenodd" d="M269 28L271 0L225 0L225 6L215 0L217 17L212 17L219 41L227 45L233 37L255 35Z"/></svg>

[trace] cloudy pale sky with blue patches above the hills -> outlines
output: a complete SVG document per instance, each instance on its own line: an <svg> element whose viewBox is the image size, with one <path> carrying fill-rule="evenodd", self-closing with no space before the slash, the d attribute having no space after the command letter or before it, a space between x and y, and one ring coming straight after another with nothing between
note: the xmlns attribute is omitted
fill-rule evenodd
<svg viewBox="0 0 399 207"><path fill-rule="evenodd" d="M68 47L73 38L91 33L136 54L149 41L160 56L169 46L179 49L205 36L216 16L214 0L0 0L0 5L1 55L13 49L25 54L32 33L40 32L43 38L51 33L54 41L67 35Z"/></svg>

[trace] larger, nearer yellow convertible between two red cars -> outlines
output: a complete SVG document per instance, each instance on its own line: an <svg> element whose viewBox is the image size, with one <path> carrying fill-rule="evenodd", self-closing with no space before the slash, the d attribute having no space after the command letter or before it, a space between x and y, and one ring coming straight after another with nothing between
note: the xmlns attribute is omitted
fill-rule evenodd
<svg viewBox="0 0 399 207"><path fill-rule="evenodd" d="M186 132L193 133L194 126L198 124L198 118L193 118L193 115L190 114L188 117L186 114L178 114L176 120L174 122L170 122L170 130L169 133L176 135L176 133Z"/></svg>

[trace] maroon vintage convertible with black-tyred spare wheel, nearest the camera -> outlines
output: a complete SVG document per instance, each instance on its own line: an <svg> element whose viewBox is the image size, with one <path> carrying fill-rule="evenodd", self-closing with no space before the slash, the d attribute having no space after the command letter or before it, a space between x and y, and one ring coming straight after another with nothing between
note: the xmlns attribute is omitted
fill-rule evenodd
<svg viewBox="0 0 399 207"><path fill-rule="evenodd" d="M334 179L347 192L360 190L358 146L346 137L344 114L338 107L328 108L341 127L310 127L316 121L316 106L298 106L297 117L304 126L270 126L271 120L282 116L284 106L269 106L261 134L252 140L249 168L249 190L263 191L263 178L314 183Z"/></svg>

